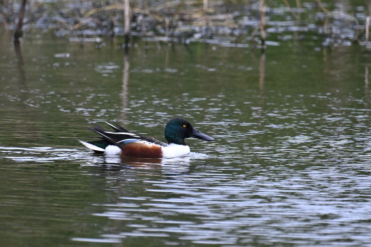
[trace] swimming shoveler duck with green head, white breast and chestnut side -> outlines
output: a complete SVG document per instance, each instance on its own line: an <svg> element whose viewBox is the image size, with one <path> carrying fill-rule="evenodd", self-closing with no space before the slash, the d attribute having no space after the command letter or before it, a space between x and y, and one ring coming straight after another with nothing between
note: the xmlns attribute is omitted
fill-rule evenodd
<svg viewBox="0 0 371 247"><path fill-rule="evenodd" d="M157 140L153 137L142 136L132 133L118 123L105 122L113 131L106 130L96 123L94 127L86 127L98 133L100 140L82 141L78 140L85 147L97 154L121 155L134 158L169 158L179 157L190 153L189 146L184 139L193 137L204 141L214 141L214 138L203 134L194 128L187 120L181 117L170 119L165 126L165 139L168 143Z"/></svg>

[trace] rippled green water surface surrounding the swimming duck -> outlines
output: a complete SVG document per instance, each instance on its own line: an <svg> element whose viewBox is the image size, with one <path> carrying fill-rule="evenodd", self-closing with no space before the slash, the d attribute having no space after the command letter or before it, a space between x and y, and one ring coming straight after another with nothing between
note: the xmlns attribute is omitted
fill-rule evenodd
<svg viewBox="0 0 371 247"><path fill-rule="evenodd" d="M140 39L125 56L47 33L20 57L1 37L1 246L371 243L370 51L307 35L264 56ZM77 141L110 120L164 140L174 116L216 141L163 160Z"/></svg>

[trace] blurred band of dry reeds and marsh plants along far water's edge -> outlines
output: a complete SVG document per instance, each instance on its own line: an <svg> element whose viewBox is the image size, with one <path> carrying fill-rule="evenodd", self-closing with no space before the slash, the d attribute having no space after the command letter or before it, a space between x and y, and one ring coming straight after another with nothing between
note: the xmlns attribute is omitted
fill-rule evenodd
<svg viewBox="0 0 371 247"><path fill-rule="evenodd" d="M237 47L301 39L301 34L309 33L322 46L354 42L370 46L368 4L340 0L28 0L23 33L53 29L57 36L80 41L121 35L128 41L130 35L168 43L203 41ZM21 1L0 1L5 29L16 29L20 9Z"/></svg>

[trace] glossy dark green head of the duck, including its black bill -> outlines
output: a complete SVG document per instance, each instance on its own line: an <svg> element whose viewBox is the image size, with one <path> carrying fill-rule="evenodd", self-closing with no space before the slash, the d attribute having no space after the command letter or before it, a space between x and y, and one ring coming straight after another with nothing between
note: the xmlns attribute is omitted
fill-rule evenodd
<svg viewBox="0 0 371 247"><path fill-rule="evenodd" d="M205 141L214 141L214 138L196 130L187 120L181 117L175 117L166 124L165 139L169 143L186 145L184 139L188 137L194 137Z"/></svg>

